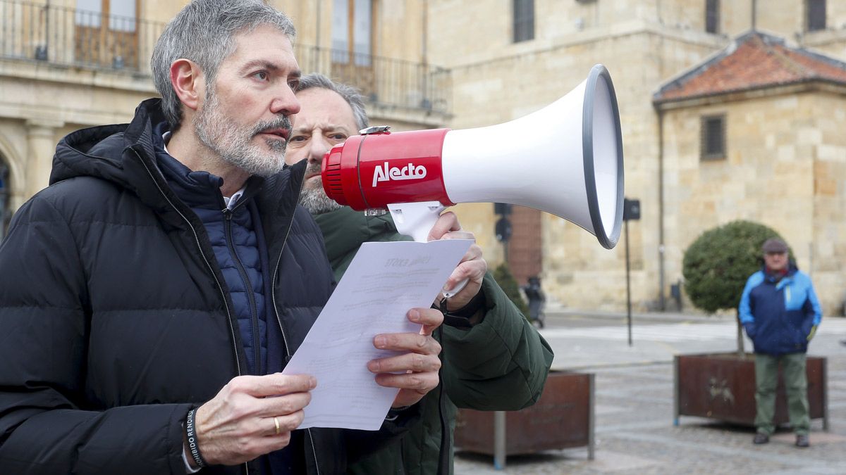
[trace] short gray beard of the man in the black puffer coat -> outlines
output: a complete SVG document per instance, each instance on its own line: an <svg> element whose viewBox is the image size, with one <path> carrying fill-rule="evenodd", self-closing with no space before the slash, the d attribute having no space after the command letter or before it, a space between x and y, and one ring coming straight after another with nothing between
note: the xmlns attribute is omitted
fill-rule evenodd
<svg viewBox="0 0 846 475"><path fill-rule="evenodd" d="M288 141L267 139L268 150L261 150L251 144L250 140L264 130L282 127L291 128L288 117L260 121L253 128L234 125L227 117L223 117L213 90L208 91L206 105L194 119L194 130L201 144L217 153L228 164L259 177L270 177L282 171Z"/></svg>

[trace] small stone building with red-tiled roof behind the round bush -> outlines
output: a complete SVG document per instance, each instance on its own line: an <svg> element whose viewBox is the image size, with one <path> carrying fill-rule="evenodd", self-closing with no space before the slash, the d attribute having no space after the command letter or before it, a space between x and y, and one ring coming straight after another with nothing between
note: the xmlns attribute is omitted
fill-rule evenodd
<svg viewBox="0 0 846 475"><path fill-rule="evenodd" d="M667 242L758 221L791 243L829 314L846 285L846 63L761 32L737 38L654 96L665 139ZM673 251L683 251L683 248ZM681 255L667 259L679 272Z"/></svg>

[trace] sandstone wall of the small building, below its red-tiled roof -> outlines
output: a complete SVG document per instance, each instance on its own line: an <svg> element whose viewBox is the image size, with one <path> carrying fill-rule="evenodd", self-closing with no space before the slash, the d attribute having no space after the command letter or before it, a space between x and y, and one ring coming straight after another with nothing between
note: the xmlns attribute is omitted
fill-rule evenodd
<svg viewBox="0 0 846 475"><path fill-rule="evenodd" d="M846 278L842 177L846 96L773 90L667 111L664 183L667 276L702 232L744 219L777 230L815 281L826 314L840 311ZM839 111L826 117L826 110ZM725 160L700 160L700 117L724 114ZM825 117L825 118L823 118Z"/></svg>

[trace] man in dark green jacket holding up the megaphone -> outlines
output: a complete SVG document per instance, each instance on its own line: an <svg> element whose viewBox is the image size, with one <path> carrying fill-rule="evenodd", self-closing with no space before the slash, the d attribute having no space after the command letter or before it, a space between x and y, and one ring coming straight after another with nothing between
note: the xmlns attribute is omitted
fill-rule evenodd
<svg viewBox="0 0 846 475"><path fill-rule="evenodd" d="M300 203L314 215L327 254L340 279L362 243L410 240L397 232L390 215L365 216L329 199L321 183L321 161L333 145L367 127L357 90L321 74L300 78L300 111L288 139L288 164L308 160ZM430 239L473 238L452 212L443 213ZM547 341L514 307L486 271L481 248L473 245L445 288L465 279L449 298L442 334L441 387L421 401L423 417L402 440L354 463L350 472L435 474L453 472L452 435L456 407L516 411L541 396L552 364Z"/></svg>

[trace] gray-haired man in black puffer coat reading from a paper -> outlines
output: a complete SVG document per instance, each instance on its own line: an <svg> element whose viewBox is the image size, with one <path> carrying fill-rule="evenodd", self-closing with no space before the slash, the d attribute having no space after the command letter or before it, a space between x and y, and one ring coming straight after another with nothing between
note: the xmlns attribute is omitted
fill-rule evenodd
<svg viewBox="0 0 846 475"><path fill-rule="evenodd" d="M431 308L374 336L381 431L295 430L320 381L280 372L333 281L283 162L293 35L260 0L194 0L152 57L162 99L59 143L0 246L0 473L343 473L415 419Z"/></svg>

